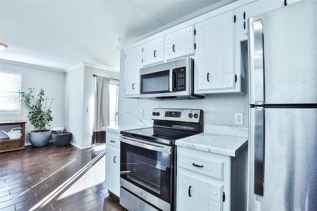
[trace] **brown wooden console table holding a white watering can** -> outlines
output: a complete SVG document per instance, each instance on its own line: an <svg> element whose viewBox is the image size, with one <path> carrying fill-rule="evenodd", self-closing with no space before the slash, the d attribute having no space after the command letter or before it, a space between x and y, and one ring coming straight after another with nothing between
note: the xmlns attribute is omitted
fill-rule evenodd
<svg viewBox="0 0 317 211"><path fill-rule="evenodd" d="M25 123L26 121L0 122L0 126L19 125L20 127L22 127L21 129L22 135L20 138L16 138L16 139L1 138L0 139L0 152L8 152L8 151L25 149L24 148Z"/></svg>

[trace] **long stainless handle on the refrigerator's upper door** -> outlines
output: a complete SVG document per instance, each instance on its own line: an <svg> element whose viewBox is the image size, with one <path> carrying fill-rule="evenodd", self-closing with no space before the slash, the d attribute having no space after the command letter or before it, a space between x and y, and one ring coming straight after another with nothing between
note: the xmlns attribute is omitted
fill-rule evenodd
<svg viewBox="0 0 317 211"><path fill-rule="evenodd" d="M264 36L262 19L249 18L250 104L264 104Z"/></svg>

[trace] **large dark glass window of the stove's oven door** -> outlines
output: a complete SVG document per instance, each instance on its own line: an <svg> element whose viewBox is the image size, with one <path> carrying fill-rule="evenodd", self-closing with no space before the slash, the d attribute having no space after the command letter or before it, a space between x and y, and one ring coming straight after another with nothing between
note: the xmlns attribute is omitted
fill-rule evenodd
<svg viewBox="0 0 317 211"><path fill-rule="evenodd" d="M120 177L159 197L171 201L172 155L121 142Z"/></svg>

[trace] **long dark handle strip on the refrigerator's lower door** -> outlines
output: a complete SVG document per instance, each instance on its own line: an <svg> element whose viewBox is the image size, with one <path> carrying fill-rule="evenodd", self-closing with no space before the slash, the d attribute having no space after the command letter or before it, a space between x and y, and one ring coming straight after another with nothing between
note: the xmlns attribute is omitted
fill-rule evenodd
<svg viewBox="0 0 317 211"><path fill-rule="evenodd" d="M264 108L254 111L254 193L264 196Z"/></svg>

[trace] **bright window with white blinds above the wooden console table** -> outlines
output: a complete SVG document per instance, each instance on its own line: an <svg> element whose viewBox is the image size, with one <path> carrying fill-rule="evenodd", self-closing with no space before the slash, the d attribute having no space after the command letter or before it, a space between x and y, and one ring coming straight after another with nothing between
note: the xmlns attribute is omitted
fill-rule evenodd
<svg viewBox="0 0 317 211"><path fill-rule="evenodd" d="M20 114L22 75L0 72L0 114Z"/></svg>

